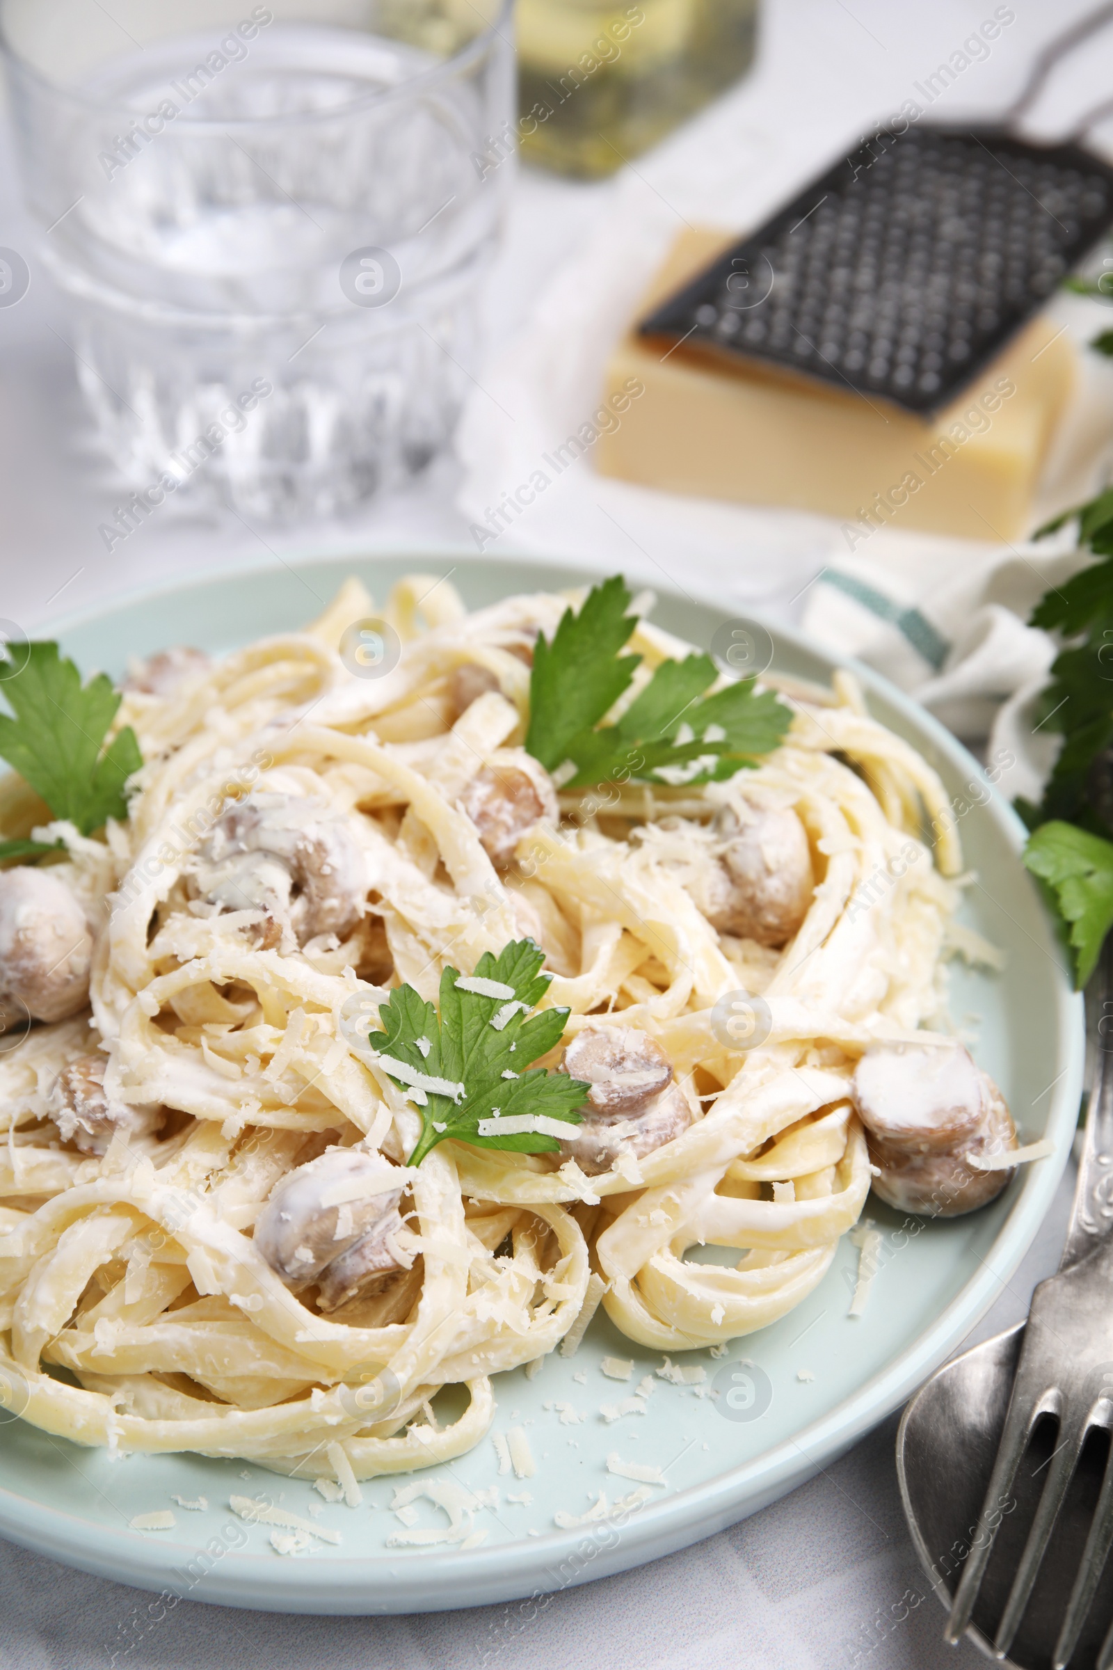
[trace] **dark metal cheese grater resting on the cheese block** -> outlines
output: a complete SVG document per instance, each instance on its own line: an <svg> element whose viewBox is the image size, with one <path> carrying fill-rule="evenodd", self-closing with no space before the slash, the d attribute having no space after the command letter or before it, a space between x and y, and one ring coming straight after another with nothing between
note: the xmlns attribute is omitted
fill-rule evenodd
<svg viewBox="0 0 1113 1670"><path fill-rule="evenodd" d="M883 129L639 324L641 336L781 367L911 412L949 404L1113 225L1113 167L1011 127L1051 67L1113 18L1060 35L993 127Z"/></svg>

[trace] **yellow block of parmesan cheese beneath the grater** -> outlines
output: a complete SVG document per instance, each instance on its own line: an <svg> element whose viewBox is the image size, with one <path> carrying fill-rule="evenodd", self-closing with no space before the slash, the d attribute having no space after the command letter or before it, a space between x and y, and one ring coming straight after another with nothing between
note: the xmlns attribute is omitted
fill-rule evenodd
<svg viewBox="0 0 1113 1670"><path fill-rule="evenodd" d="M686 230L636 319L731 242ZM631 329L607 361L607 396L644 394L602 434L606 476L743 504L838 516L851 548L879 526L973 539L1028 531L1033 493L1076 376L1061 327L1038 316L953 406L923 419L883 401L733 366Z"/></svg>

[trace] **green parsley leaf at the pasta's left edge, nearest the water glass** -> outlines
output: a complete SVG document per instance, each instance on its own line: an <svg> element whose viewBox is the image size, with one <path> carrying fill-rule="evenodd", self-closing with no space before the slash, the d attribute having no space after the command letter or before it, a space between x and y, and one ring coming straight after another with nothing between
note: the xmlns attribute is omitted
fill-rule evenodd
<svg viewBox="0 0 1113 1670"><path fill-rule="evenodd" d="M0 690L12 708L12 715L0 713L0 757L53 815L82 835L108 817L127 817L123 785L144 758L130 725L103 748L120 706L112 680L98 673L82 688L82 675L62 660L57 643L28 643L25 665Z"/></svg>

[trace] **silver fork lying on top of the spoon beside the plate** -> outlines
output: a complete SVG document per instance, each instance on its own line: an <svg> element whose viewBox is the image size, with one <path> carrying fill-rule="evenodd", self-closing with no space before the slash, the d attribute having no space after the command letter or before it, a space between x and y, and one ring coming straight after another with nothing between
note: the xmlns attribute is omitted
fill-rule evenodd
<svg viewBox="0 0 1113 1670"><path fill-rule="evenodd" d="M971 1540L944 1632L954 1643L969 1623L1016 1468L1036 1421L1053 1414L1060 1423L1058 1446L993 1642L1000 1658L1008 1653L1031 1598L1086 1435L1113 1428L1113 934L1101 952L1100 979L1086 995L1091 1091L1066 1246L1058 1273L1041 1281L1031 1299L978 1535ZM1113 1446L1055 1643L1055 1670L1065 1670L1075 1652L1111 1543ZM1113 1670L1113 1627L1101 1643L1096 1670Z"/></svg>

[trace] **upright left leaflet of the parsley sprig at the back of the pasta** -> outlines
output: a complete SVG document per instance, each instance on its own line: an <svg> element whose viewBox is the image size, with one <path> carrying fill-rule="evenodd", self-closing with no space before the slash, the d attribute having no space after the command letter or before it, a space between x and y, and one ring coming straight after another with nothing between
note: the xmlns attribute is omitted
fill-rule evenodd
<svg viewBox="0 0 1113 1670"><path fill-rule="evenodd" d="M639 655L619 655L637 625L621 574L592 586L579 615L561 616L552 643L537 635L529 680L526 748L547 772L569 758L569 745L597 725L634 676Z"/></svg>

